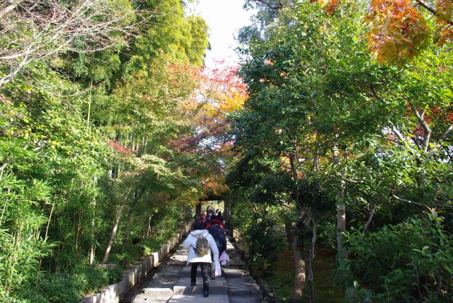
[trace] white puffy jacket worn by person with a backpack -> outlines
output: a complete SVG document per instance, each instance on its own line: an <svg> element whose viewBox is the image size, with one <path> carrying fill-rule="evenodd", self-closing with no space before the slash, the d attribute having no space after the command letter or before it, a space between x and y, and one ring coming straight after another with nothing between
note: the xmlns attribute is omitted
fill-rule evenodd
<svg viewBox="0 0 453 303"><path fill-rule="evenodd" d="M207 253L206 256L200 257L197 256L197 253L195 253L195 247L197 247L198 238L206 238L208 243L210 244L210 253ZM214 261L214 263L219 263L219 248L217 248L214 238L212 238L211 234L206 229L196 229L194 231L190 231L190 234L188 234L187 238L185 238L183 242L183 247L188 248L187 263L212 263L211 251L212 255L214 256L214 260L217 260Z"/></svg>

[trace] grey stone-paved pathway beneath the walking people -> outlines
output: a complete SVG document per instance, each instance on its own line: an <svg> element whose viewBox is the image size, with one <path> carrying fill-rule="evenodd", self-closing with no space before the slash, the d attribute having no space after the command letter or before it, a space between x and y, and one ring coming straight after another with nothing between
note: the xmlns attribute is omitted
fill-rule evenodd
<svg viewBox="0 0 453 303"><path fill-rule="evenodd" d="M158 270L142 282L130 295L132 299L122 302L163 303L163 302L216 302L216 303L258 303L262 302L261 291L248 275L246 263L227 238L226 253L230 265L224 267L224 275L210 280L210 296L202 295L201 270L197 271L197 286L190 286L190 265L186 265L187 251L179 246L172 256L164 259Z"/></svg>

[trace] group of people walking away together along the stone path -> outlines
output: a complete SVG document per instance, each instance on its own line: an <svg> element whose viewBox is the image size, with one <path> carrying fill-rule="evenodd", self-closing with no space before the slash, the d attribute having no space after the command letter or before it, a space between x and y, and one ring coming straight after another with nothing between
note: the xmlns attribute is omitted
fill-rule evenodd
<svg viewBox="0 0 453 303"><path fill-rule="evenodd" d="M188 249L187 263L192 263L190 270L190 285L196 285L197 268L200 265L203 275L203 296L209 296L211 279L222 275L222 265L227 265L229 258L226 254L226 235L224 231L222 212L208 207L200 217L195 219L193 231L183 241L183 247Z"/></svg>

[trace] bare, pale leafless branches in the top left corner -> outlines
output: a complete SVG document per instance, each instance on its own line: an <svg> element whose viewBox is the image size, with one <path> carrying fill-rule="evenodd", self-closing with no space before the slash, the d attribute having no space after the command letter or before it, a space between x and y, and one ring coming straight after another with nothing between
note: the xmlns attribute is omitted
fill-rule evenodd
<svg viewBox="0 0 453 303"><path fill-rule="evenodd" d="M30 3L29 3L30 2ZM80 0L71 8L58 0L11 0L0 10L0 17L19 7L8 16L8 23L20 23L2 29L1 35L10 38L0 49L0 64L10 69L0 79L0 87L8 83L25 66L71 51L93 53L120 45L134 36L138 23L130 22L137 10L123 10L108 0ZM30 4L30 5L29 5ZM155 12L147 12L156 16ZM81 47L80 45L84 45Z"/></svg>

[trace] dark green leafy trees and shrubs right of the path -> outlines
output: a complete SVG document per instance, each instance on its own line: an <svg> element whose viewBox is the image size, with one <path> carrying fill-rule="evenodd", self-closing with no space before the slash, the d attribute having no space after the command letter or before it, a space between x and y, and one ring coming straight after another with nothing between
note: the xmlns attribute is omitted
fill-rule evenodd
<svg viewBox="0 0 453 303"><path fill-rule="evenodd" d="M249 98L227 181L263 216L270 205L285 214L294 302L314 301L318 235L336 239L337 282L352 301L448 302L452 53L431 42L404 65L379 64L368 4L248 1L258 8L239 35Z"/></svg>

